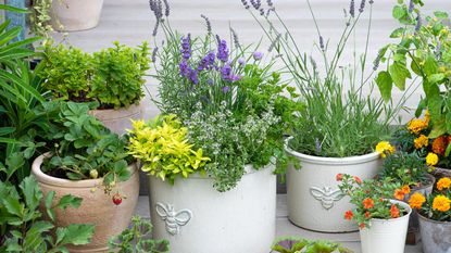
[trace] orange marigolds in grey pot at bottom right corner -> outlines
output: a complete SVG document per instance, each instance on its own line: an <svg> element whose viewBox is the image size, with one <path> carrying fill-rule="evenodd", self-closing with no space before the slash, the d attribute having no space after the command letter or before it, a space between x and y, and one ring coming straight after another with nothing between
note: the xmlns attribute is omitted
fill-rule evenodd
<svg viewBox="0 0 451 253"><path fill-rule="evenodd" d="M447 253L451 246L451 179L443 177L437 181L437 190L425 195L414 193L409 204L417 210L423 251L425 253Z"/></svg>

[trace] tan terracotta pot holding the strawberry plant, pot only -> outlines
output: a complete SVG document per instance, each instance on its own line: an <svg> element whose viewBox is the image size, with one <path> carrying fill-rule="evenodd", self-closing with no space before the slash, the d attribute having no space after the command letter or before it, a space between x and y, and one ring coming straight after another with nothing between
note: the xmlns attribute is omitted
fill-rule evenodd
<svg viewBox="0 0 451 253"><path fill-rule="evenodd" d="M49 155L49 154L45 154ZM49 176L40 169L45 155L38 156L32 168L43 195L49 191L55 191L54 201L65 194L83 198L78 208L68 207L66 211L57 210L57 227L65 227L70 224L93 224L95 235L89 244L83 246L68 246L72 253L78 252L108 252L108 240L112 236L121 233L128 227L135 207L138 202L139 174L136 164L129 166L133 170L130 179L117 184L116 188L125 195L122 204L115 205L112 197L107 195L99 186L102 179L89 179L72 181ZM96 189L96 191L91 191Z"/></svg>

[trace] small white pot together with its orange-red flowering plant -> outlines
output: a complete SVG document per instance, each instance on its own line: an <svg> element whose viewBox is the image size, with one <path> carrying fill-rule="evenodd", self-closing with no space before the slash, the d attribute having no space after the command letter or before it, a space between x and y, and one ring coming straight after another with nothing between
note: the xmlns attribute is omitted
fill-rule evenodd
<svg viewBox="0 0 451 253"><path fill-rule="evenodd" d="M344 218L359 224L362 253L403 253L412 208L387 198L405 189L388 180L362 181L346 174L338 174L337 181L355 206L344 213Z"/></svg>

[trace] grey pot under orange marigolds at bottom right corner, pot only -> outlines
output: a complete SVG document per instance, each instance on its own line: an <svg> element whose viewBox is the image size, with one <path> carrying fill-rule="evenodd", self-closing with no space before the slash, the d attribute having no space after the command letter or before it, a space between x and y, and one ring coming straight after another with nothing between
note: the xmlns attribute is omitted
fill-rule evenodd
<svg viewBox="0 0 451 253"><path fill-rule="evenodd" d="M424 253L451 252L451 223L436 222L418 214Z"/></svg>

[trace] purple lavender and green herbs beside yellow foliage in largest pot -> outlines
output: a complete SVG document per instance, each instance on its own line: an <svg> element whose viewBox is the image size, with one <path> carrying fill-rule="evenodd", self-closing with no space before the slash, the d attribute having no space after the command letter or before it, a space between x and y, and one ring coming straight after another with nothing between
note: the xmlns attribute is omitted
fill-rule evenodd
<svg viewBox="0 0 451 253"><path fill-rule="evenodd" d="M277 161L277 172L283 172L288 162L284 134L301 105L283 96L297 94L271 72L273 63L264 64L263 52L240 45L235 31L235 43L215 36L204 15L205 36L192 37L171 28L161 1L150 7L165 36L154 54L155 103L162 113L177 115L190 143L211 159L205 173L215 189L236 187L247 164L260 169Z"/></svg>

